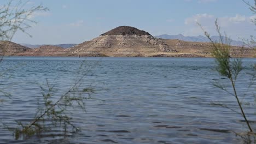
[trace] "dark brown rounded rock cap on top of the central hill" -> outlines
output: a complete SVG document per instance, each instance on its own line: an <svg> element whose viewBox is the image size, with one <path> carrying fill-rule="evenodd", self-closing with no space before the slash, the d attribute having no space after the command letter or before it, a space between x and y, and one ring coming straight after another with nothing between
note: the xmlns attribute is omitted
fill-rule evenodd
<svg viewBox="0 0 256 144"><path fill-rule="evenodd" d="M129 27L129 26L120 26L116 27L106 33L103 33L101 35L151 35L148 32L141 31L135 27ZM151 35L152 36L152 35Z"/></svg>

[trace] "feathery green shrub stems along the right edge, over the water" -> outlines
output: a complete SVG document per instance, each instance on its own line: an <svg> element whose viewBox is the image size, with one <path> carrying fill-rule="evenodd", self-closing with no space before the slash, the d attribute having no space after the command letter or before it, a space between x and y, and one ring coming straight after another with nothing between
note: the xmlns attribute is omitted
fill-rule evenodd
<svg viewBox="0 0 256 144"><path fill-rule="evenodd" d="M256 0L254 0L254 5L251 5L250 3L244 1L247 5L249 5L249 9L255 14L256 13ZM254 22L254 25L256 26L256 19L254 19L252 22ZM198 23L199 26L200 23ZM254 130L251 127L251 124L249 123L249 120L246 116L245 110L242 106L242 101L240 100L240 97L237 94L237 87L236 87L236 80L237 77L241 74L241 71L243 70L243 65L242 65L242 58L231 58L230 56L230 48L231 46L229 45L228 41L228 37L224 32L224 35L222 34L222 32L220 32L220 27L218 25L218 20L216 20L215 22L216 25L216 30L219 34L219 41L213 41L210 37L210 34L207 33L201 26L201 28L203 29L203 31L205 32L206 37L211 41L212 45L213 45L213 50L212 50L212 56L215 58L216 61L216 71L218 71L218 73L221 76L225 76L226 78L229 79L231 86L232 86L232 92L229 92L225 85L220 84L219 82L214 83L214 86L222 89L223 91L233 95L237 101L237 105L239 106L240 109L240 113L243 117L243 119L245 119L245 122L247 124L248 130L250 133L254 134ZM248 40L245 42L245 44L247 46L250 46L251 44L255 44L255 37L253 35L251 35L251 40ZM253 47L251 47L253 48ZM248 80L249 84L248 87L253 87L255 85L255 80L256 80L256 64L252 65L253 67L253 72L250 74L251 75L251 79ZM246 92L245 92L246 93ZM255 97L254 93L252 93L250 95L250 97ZM248 102L250 104L250 101ZM224 106L222 104L219 104L220 106ZM229 108L228 106L224 106ZM229 108L230 109L230 108ZM235 110L233 110L235 111Z"/></svg>

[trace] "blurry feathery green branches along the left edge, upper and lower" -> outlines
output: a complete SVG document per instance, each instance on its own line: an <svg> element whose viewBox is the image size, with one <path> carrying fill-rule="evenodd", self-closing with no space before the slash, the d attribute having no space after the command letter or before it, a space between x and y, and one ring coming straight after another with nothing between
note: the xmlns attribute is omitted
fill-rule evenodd
<svg viewBox="0 0 256 144"><path fill-rule="evenodd" d="M32 24L37 23L31 19L32 15L38 11L48 11L48 8L43 5L36 7L26 8L27 2L14 2L9 1L7 5L3 5L0 9L0 40L11 41L17 31L26 32L26 29L30 28ZM28 34L30 37L31 35ZM9 43L0 47L1 57L0 63L3 61L5 52L10 49ZM42 91L42 99L38 101L38 107L34 118L30 123L24 123L22 121L16 121L17 128L9 128L4 124L4 127L13 131L15 139L28 139L30 136L49 131L53 128L58 128L63 131L63 135L66 133L79 130L76 127L69 115L70 111L74 107L79 107L80 110L85 111L85 100L90 99L91 93L94 93L94 89L91 87L82 88L83 80L85 76L90 72L92 67L83 62L80 65L77 75L74 75L76 79L73 85L67 89L59 98L56 98L55 85L46 80L45 86L40 86ZM3 71L2 71L3 72ZM1 75L3 76L3 75ZM2 77L3 78L3 77ZM1 83L4 86L4 83ZM4 87L0 87L0 93L5 97L13 97L8 92L4 91ZM1 97L2 97L1 96ZM0 98L3 101L4 98Z"/></svg>

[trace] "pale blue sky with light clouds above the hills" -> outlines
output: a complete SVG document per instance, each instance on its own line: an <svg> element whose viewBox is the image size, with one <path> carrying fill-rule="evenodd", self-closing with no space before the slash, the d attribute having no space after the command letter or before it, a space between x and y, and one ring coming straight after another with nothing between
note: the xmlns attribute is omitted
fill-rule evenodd
<svg viewBox="0 0 256 144"><path fill-rule="evenodd" d="M254 0L246 0L254 4ZM14 3L18 2L14 0ZM0 5L8 3L3 0ZM12 41L28 44L83 43L118 26L132 26L152 35L204 35L201 26L216 35L218 18L222 31L235 40L255 35L256 18L242 0L34 0L26 8L42 4L49 11L34 13L27 32Z"/></svg>

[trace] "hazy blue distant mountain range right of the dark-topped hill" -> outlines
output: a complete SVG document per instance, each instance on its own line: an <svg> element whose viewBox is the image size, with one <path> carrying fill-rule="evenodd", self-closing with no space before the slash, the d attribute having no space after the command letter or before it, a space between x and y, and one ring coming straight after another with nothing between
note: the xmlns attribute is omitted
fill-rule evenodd
<svg viewBox="0 0 256 144"><path fill-rule="evenodd" d="M210 40L202 35L198 35L198 36L184 36L182 34L178 34L178 35L168 35L168 34L162 34L162 35L156 35L156 38L161 38L161 39L179 39L179 40L183 40L183 41L194 41L194 42L210 42ZM219 36L212 36L211 39L215 42L219 42ZM223 40L225 41L225 37L223 37ZM227 38L226 39L228 41L228 43L230 43L230 45L233 46L246 46L243 41L238 41L238 40L232 40ZM252 46L256 46L256 45L252 45Z"/></svg>

